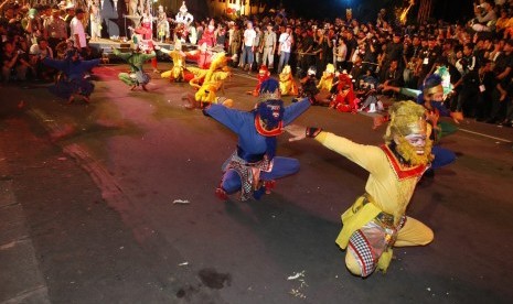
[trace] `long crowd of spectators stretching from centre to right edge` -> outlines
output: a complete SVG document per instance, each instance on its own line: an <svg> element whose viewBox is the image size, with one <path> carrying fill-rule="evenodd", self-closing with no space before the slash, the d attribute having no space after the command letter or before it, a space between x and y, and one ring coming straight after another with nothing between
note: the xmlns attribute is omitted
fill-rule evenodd
<svg viewBox="0 0 513 304"><path fill-rule="evenodd" d="M217 20L215 36L242 69L267 65L279 74L290 65L320 79L328 64L349 73L355 90L367 85L418 88L439 66L450 72L446 106L468 118L511 127L513 119L513 1L479 0L463 24L406 23L385 9L375 21L348 14L334 20L276 14ZM199 39L209 21L196 22ZM398 97L398 96L396 96Z"/></svg>

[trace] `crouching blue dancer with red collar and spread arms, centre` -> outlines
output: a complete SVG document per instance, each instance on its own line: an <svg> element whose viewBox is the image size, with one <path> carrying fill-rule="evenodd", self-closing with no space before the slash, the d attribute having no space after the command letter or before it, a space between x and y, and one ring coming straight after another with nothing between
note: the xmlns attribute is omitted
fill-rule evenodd
<svg viewBox="0 0 513 304"><path fill-rule="evenodd" d="M265 80L259 90L259 102L252 111L210 105L203 112L217 120L238 135L236 151L223 164L223 178L215 194L226 200L227 195L241 192L241 200L252 194L260 198L269 193L275 180L299 171L299 161L276 156L277 135L311 105L308 98L284 106L279 83Z"/></svg>

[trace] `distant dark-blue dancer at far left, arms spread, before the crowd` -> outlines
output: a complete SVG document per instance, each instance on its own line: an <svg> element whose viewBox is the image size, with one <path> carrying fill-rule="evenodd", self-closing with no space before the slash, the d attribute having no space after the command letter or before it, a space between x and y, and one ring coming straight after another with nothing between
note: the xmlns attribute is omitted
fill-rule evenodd
<svg viewBox="0 0 513 304"><path fill-rule="evenodd" d="M89 96L95 89L95 85L85 76L87 70L99 63L100 59L83 61L75 48L68 50L63 61L44 58L43 64L62 73L50 90L56 96L67 99L68 104L74 101L75 94L79 95L85 102L89 102Z"/></svg>

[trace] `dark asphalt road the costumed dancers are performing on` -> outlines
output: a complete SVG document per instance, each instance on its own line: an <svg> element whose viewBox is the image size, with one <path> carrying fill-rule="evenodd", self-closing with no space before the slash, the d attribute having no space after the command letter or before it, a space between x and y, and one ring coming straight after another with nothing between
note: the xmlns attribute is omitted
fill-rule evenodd
<svg viewBox="0 0 513 304"><path fill-rule="evenodd" d="M0 226L0 303L511 303L512 129L466 120L442 140L458 160L408 209L435 241L395 249L386 274L362 280L334 239L366 172L285 134L278 154L300 172L260 200L220 202L235 135L183 108L189 85L156 77L129 91L116 78L126 68L95 69L90 105L0 87L0 214L15 206L24 227ZM226 83L235 108L254 107L253 76ZM312 107L298 123L383 141L364 115Z"/></svg>

